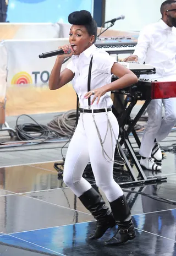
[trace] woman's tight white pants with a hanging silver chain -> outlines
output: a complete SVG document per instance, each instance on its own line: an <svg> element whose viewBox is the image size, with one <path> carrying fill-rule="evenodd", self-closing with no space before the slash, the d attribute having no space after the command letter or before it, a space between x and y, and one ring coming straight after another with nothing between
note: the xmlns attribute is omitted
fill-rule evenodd
<svg viewBox="0 0 176 256"><path fill-rule="evenodd" d="M94 115L101 138L104 140L107 132L106 112L95 113ZM108 117L116 138L114 138L113 134L111 137L111 130L108 128L103 147L108 156L114 160L114 150L116 148L116 140L118 139L119 126L116 117L111 111L108 112ZM113 179L113 161L108 162L103 157L102 147L92 113L81 113L78 126L67 151L63 177L64 183L73 190L77 197L80 197L80 195L91 188L90 183L82 177L89 161L91 162L96 184L103 190L108 201L114 201L123 195L122 189Z"/></svg>

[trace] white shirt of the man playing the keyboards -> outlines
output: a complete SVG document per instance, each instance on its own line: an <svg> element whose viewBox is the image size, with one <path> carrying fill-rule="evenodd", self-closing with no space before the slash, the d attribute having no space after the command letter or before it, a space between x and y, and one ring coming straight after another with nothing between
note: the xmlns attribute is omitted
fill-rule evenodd
<svg viewBox="0 0 176 256"><path fill-rule="evenodd" d="M156 68L155 75L142 75L147 79L176 77L176 29L163 20L149 24L141 30L133 53L139 62Z"/></svg>

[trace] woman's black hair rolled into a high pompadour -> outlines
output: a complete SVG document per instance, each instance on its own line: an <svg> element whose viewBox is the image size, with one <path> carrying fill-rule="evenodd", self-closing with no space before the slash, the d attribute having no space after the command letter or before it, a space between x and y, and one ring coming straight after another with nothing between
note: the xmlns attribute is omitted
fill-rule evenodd
<svg viewBox="0 0 176 256"><path fill-rule="evenodd" d="M97 37L97 23L92 15L87 10L80 10L69 14L68 22L72 25L83 25L85 26L90 36ZM94 42L95 42L94 41Z"/></svg>

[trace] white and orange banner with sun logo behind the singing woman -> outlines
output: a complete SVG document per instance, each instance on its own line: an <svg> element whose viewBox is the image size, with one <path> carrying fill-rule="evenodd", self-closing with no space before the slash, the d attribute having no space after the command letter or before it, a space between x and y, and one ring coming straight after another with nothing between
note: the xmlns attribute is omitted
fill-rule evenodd
<svg viewBox="0 0 176 256"><path fill-rule="evenodd" d="M59 90L48 89L48 80L57 57L38 58L41 53L57 50L58 46L68 42L68 38L65 38L4 40L1 43L0 81L5 88L7 78L8 116L62 112L76 107L76 94L71 83ZM63 64L62 69L68 62Z"/></svg>

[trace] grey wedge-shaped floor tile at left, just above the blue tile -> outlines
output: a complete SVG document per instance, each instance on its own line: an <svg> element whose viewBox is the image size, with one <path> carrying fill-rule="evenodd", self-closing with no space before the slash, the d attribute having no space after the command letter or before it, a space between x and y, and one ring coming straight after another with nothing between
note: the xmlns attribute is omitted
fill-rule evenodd
<svg viewBox="0 0 176 256"><path fill-rule="evenodd" d="M48 204L23 195L0 197L0 231L13 233L90 221L89 214Z"/></svg>

